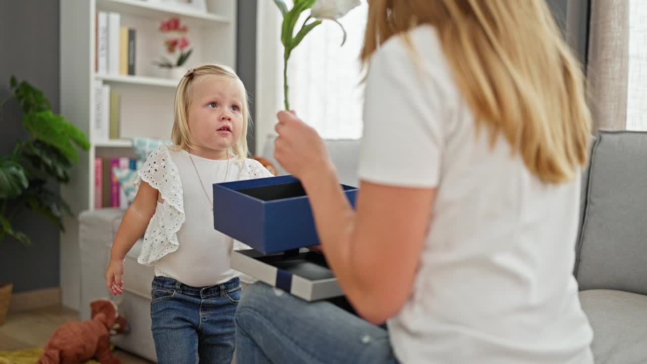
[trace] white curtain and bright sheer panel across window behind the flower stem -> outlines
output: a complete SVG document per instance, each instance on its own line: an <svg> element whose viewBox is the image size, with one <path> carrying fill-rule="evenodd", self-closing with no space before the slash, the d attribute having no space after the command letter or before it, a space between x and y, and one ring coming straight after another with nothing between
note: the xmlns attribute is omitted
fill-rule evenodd
<svg viewBox="0 0 647 364"><path fill-rule="evenodd" d="M286 1L291 6L291 1ZM256 148L261 152L273 133L276 111L283 109L283 45L281 14L273 1L258 2L258 55L256 90ZM323 21L290 56L288 85L290 108L326 139L362 137L363 91L359 52L364 42L366 0L340 19ZM297 23L300 28L307 14ZM295 30L296 31L296 30Z"/></svg>

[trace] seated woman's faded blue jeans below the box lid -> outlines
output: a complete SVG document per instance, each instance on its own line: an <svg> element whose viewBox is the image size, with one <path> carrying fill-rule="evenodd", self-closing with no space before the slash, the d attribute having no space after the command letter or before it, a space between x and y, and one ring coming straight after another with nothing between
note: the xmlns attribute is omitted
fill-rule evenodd
<svg viewBox="0 0 647 364"><path fill-rule="evenodd" d="M396 364L389 334L330 302L255 283L236 312L236 363Z"/></svg>

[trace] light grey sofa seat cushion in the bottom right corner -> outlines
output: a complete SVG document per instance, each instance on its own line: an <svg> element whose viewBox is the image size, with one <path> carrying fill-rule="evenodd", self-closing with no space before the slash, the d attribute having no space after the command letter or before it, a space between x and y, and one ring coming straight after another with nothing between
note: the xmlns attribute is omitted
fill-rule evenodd
<svg viewBox="0 0 647 364"><path fill-rule="evenodd" d="M595 363L647 363L647 296L587 290L580 301L593 328Z"/></svg>

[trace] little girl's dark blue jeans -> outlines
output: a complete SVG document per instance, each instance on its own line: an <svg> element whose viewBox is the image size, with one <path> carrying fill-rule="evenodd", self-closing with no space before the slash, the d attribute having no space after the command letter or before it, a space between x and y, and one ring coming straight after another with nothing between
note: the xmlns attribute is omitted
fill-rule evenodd
<svg viewBox="0 0 647 364"><path fill-rule="evenodd" d="M157 363L232 362L234 314L241 299L239 279L197 288L155 277L151 297Z"/></svg>

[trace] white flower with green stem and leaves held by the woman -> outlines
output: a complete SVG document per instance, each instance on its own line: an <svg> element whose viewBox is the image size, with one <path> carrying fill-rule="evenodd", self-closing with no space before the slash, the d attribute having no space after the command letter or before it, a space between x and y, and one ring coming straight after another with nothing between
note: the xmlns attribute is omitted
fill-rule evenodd
<svg viewBox="0 0 647 364"><path fill-rule="evenodd" d="M329 19L337 23L340 27L338 19L345 16L352 8L360 5L358 0L294 0L294 5L291 9L285 5L283 0L274 0L274 3L279 8L283 16L283 23L281 24L281 43L283 44L283 102L285 109L290 109L290 102L288 100L288 85L287 85L287 61L294 48L311 32L317 25L322 23L320 19ZM294 35L294 27L305 10L311 9L310 15L305 19L301 29ZM310 22L311 19L316 19ZM344 40L346 40L346 32L344 32Z"/></svg>

